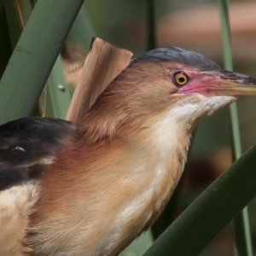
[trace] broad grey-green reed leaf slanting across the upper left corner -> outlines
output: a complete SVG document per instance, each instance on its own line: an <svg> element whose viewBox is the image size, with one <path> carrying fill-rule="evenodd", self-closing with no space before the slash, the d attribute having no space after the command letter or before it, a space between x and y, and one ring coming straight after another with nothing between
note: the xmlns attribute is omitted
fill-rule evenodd
<svg viewBox="0 0 256 256"><path fill-rule="evenodd" d="M32 113L83 2L38 0L0 81L0 124Z"/></svg>

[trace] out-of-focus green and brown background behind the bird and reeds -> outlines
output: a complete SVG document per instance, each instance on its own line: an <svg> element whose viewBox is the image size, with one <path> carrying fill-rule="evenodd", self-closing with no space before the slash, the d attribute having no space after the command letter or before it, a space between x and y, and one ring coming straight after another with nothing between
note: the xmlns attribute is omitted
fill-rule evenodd
<svg viewBox="0 0 256 256"><path fill-rule="evenodd" d="M5 3L5 9L3 3ZM21 33L21 30L17 29L17 24L11 25L15 15L12 16L12 10L8 11L6 9L9 3L20 4L20 12L24 24L26 24L32 6L36 1L6 0L0 3L0 22L2 24L0 26L1 74ZM83 66L92 36L102 38L120 48L129 49L134 53L134 57L141 55L148 49L148 3L150 3L150 0L85 1L82 10L83 15L80 12L75 21L66 44L61 50L61 57L56 61L41 96L41 103L46 116L65 117L68 105L63 104L63 102L68 102L68 99L72 96L74 80L78 76L79 68ZM154 3L157 47L178 46L193 49L217 61L220 67L224 67L217 1L158 0L151 3ZM255 1L230 1L230 34L234 70L254 76L256 76L255 13ZM63 16L62 19L64 21L66 17ZM10 31L12 27L17 31L9 33L7 31L8 27ZM67 90L61 91L61 87L58 87L60 83ZM65 101L63 101L63 98L65 98ZM55 105L58 101L63 104L61 108L59 105ZM242 152L245 152L256 141L254 102L254 97L241 98L237 102ZM201 119L189 150L189 163L178 196L175 217L183 212L212 181L231 165L230 144L230 114L228 108L218 111L210 118ZM250 204L249 215L255 251L256 201ZM141 255L151 243L152 236L149 231L121 254L127 256ZM201 255L233 255L234 244L233 223L230 223Z"/></svg>

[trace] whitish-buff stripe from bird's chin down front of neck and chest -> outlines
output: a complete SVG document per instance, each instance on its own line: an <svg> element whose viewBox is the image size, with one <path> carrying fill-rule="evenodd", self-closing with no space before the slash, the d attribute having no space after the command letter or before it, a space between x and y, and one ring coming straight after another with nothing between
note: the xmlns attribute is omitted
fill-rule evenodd
<svg viewBox="0 0 256 256"><path fill-rule="evenodd" d="M200 106L184 104L170 109L157 119L150 120L148 127L146 123L143 135L137 134L135 141L140 143L134 149L137 166L133 182L140 191L134 193L131 201L125 202L117 215L112 237L116 242L124 239L125 244L125 240L129 241L129 238L124 238L127 232L136 237L154 222L166 206L183 172L197 117L211 114L224 103L234 100L224 96L204 98Z"/></svg>

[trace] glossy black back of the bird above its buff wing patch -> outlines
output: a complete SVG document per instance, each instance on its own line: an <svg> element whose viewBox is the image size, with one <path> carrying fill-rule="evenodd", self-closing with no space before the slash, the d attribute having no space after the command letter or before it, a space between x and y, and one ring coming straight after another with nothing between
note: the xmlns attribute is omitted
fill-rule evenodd
<svg viewBox="0 0 256 256"><path fill-rule="evenodd" d="M71 122L49 118L23 118L1 125L0 190L37 178L74 129Z"/></svg>

